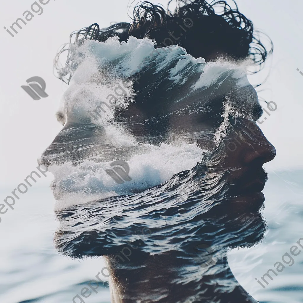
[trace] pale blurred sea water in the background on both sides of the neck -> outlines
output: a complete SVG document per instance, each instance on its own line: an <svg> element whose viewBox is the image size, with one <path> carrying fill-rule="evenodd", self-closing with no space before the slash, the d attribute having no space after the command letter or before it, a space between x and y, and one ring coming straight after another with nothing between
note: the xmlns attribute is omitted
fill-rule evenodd
<svg viewBox="0 0 303 303"><path fill-rule="evenodd" d="M7 195L7 189L1 194ZM255 280L303 237L303 171L269 173L264 194L265 240L253 248L233 249L229 265L239 283L258 301L303 302L303 253L293 256L294 264L286 265L265 289ZM72 260L55 251L53 236L58 222L54 203L49 188L37 184L16 202L14 210L2 215L0 302L72 302L105 266L102 258ZM97 291L85 303L110 302L106 283Z"/></svg>

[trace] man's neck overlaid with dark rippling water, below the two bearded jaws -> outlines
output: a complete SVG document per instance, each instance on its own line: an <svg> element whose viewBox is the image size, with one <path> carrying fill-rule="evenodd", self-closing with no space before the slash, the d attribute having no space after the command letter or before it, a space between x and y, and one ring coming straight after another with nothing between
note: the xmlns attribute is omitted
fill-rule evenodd
<svg viewBox="0 0 303 303"><path fill-rule="evenodd" d="M179 251L111 266L112 303L257 302L232 274L226 250L207 258ZM107 257L109 264L113 257Z"/></svg>

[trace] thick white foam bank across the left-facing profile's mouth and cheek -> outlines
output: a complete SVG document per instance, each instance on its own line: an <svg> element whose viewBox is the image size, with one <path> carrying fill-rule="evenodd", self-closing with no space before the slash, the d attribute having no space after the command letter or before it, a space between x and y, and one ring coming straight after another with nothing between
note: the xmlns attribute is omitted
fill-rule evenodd
<svg viewBox="0 0 303 303"><path fill-rule="evenodd" d="M111 169L110 162L85 160L77 166L64 163L59 167L50 167L49 171L55 177L56 198L59 198L57 208L144 191L169 180L177 172L194 167L201 162L204 152L197 145L185 142L174 145L162 143L159 146L145 144L144 147L145 153L135 155L127 162L132 181L123 184L116 183L106 173L105 169Z"/></svg>

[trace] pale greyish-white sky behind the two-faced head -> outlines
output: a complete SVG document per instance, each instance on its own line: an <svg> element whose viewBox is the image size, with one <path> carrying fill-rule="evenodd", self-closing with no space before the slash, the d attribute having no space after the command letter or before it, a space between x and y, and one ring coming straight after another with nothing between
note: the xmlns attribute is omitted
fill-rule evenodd
<svg viewBox="0 0 303 303"><path fill-rule="evenodd" d="M166 0L157 2L167 3ZM55 112L66 85L52 72L58 48L69 41L72 31L92 23L107 27L110 22L128 22L128 0L50 0L41 5L43 13L33 13L34 18L22 30L18 29L13 38L3 27L9 28L23 12L30 10L32 3L5 1L0 11L2 188L22 182L36 168L37 158L62 128ZM261 125L277 149L276 158L265 168L270 171L301 168L303 76L297 68L303 72L303 1L238 0L237 4L240 12L274 43L274 54L268 60L271 74L259 94L278 105ZM22 90L21 85L33 76L45 80L49 97L35 101ZM43 182L49 183L51 179L52 176L44 178Z"/></svg>

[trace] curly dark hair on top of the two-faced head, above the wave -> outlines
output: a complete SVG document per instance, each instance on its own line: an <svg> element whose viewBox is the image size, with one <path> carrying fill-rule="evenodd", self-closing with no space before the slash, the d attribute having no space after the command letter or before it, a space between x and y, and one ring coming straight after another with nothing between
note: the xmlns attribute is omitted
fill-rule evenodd
<svg viewBox="0 0 303 303"><path fill-rule="evenodd" d="M173 0L171 0L173 1ZM168 2L168 7L171 3ZM82 45L85 39L104 42L110 37L118 36L119 41L127 42L130 36L138 39L148 37L154 39L157 47L176 44L186 49L193 57L202 57L206 61L220 56L236 60L251 60L258 66L258 72L263 63L273 51L269 42L267 49L259 38L259 31L254 31L251 20L241 14L234 0L232 8L226 1L177 0L174 12L169 8L143 1L135 6L131 22L120 22L108 28L100 29L97 23L70 35L70 44L66 44L55 58L55 69L58 78L69 83L71 75L68 69L59 66L59 56L68 50L66 66L71 64L72 52L70 45ZM218 12L220 10L220 12ZM65 78L65 79L64 79Z"/></svg>

